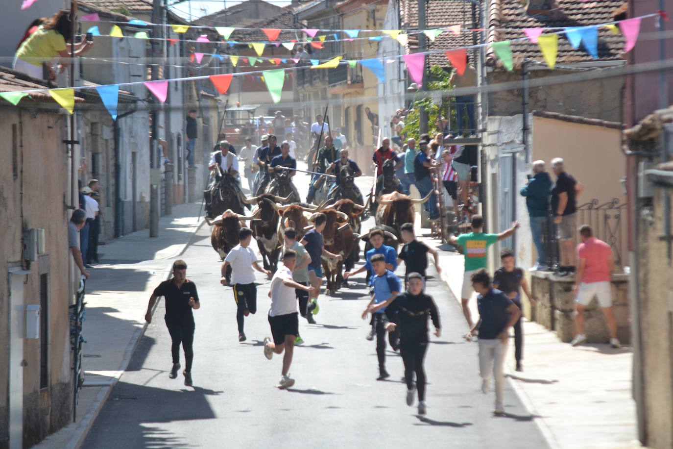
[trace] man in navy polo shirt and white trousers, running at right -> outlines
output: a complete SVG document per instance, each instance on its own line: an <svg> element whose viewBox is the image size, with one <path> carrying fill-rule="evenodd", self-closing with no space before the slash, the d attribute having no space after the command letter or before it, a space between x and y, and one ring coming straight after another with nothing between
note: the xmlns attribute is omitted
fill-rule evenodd
<svg viewBox="0 0 673 449"><path fill-rule="evenodd" d="M491 372L495 378L496 415L505 413L505 356L509 346L509 328L521 316L521 310L502 291L491 287L491 276L485 269L472 274L472 287L479 293L479 321L465 334L467 341L479 331L479 375L481 392L491 389Z"/></svg>

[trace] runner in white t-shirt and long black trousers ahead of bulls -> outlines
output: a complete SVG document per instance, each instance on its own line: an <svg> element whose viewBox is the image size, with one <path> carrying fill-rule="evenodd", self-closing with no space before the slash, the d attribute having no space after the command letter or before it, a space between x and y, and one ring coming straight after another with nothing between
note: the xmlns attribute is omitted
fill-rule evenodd
<svg viewBox="0 0 673 449"><path fill-rule="evenodd" d="M257 312L257 286L254 283L254 271L271 276L271 271L262 269L257 264L257 257L250 248L252 230L241 228L238 232L239 243L234 246L222 263L222 278L219 282L227 285L227 267L232 266L232 287L234 287L234 301L236 301L236 322L238 323L238 341L246 341L243 332L244 316Z"/></svg>

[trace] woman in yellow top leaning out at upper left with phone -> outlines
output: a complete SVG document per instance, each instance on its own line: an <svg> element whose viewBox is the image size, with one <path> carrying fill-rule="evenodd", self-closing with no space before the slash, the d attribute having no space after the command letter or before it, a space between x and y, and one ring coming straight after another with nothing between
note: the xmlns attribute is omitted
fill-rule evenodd
<svg viewBox="0 0 673 449"><path fill-rule="evenodd" d="M52 15L34 33L30 34L14 55L14 70L24 72L34 78L43 78L42 64L57 57L70 58L66 42L73 35L73 24L67 9ZM86 41L72 44L72 56L76 57L88 51L94 42ZM66 67L69 62L61 63Z"/></svg>

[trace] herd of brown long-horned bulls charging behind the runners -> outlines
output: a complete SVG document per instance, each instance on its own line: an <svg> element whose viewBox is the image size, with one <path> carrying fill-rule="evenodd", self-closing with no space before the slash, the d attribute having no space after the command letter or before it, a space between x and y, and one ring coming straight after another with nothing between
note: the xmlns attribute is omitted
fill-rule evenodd
<svg viewBox="0 0 673 449"><path fill-rule="evenodd" d="M322 266L326 277L327 294L332 294L344 285L343 269L353 268L359 260L359 240L365 241L365 252L369 249L369 233L361 234L361 219L365 207L350 199L340 199L336 202L325 201L320 205L306 203L289 203L292 195L279 197L271 193L263 193L252 198L246 198L240 193L240 200L253 205L252 215L243 215L225 210L217 219L206 219L213 226L211 244L213 249L224 259L229 250L238 244L238 232L246 221L250 221L253 237L257 241L262 256L264 269L275 272L281 249L283 233L288 228L297 230L297 241L313 228L313 221L318 213L327 217L326 226L322 232L324 248L334 254L341 254L343 261L322 258ZM424 199L413 199L409 195L393 192L381 195L376 199L376 226L372 229L381 229L386 236L385 244L397 250L400 242L400 226L404 223L413 223L415 219L415 204L424 203ZM227 283L231 281L231 267L226 273Z"/></svg>

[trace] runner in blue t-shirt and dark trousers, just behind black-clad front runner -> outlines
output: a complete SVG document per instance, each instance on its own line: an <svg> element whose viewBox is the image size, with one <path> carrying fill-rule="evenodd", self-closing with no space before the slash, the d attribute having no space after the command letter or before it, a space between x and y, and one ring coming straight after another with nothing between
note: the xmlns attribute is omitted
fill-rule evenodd
<svg viewBox="0 0 673 449"><path fill-rule="evenodd" d="M390 302L402 291L402 285L400 285L400 278L386 269L386 258L383 254L374 254L369 263L374 269L374 274L369 278L369 285L374 288L374 295L371 296L371 301L362 312L362 319L367 319L367 314L371 313L374 329L376 329L376 355L379 364L379 376L376 380L385 380L390 377L386 371L386 324L388 320L385 316L386 308L378 308L376 305L386 301Z"/></svg>

